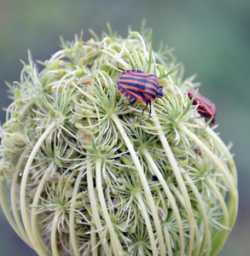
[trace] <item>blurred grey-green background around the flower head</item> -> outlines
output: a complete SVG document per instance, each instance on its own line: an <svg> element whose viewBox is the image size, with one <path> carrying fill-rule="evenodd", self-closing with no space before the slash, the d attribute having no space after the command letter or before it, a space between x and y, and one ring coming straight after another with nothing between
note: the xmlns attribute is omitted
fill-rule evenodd
<svg viewBox="0 0 250 256"><path fill-rule="evenodd" d="M200 92L217 105L216 129L232 153L239 175L240 205L235 228L220 256L249 255L250 230L250 1L249 0L1 0L0 115L11 102L9 82L20 80L27 49L44 61L60 49L60 39L72 40L89 28L101 36L108 21L125 38L128 26L139 31L142 20L153 29L153 48L160 41L185 67L185 78L197 73ZM0 209L0 254L36 255L10 228Z"/></svg>

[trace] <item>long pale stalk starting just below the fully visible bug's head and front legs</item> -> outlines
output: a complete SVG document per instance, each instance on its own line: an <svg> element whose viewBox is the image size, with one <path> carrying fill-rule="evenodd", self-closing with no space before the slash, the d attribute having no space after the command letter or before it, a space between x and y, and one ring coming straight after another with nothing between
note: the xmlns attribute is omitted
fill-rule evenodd
<svg viewBox="0 0 250 256"><path fill-rule="evenodd" d="M181 193L183 195L184 207L186 208L188 219L189 219L189 247L188 247L188 255L192 255L193 245L195 241L195 218L192 211L192 206L189 200L189 194L186 188L186 185L183 181L183 177L177 166L177 161L175 160L174 155L172 154L172 150L166 140L166 136L160 126L159 119L156 118L156 114L154 111L154 106L152 106L152 118L154 120L154 125L156 130L158 131L158 136L160 137L160 142L165 150L166 156L169 160L170 165L172 166L172 172L174 173Z"/></svg>

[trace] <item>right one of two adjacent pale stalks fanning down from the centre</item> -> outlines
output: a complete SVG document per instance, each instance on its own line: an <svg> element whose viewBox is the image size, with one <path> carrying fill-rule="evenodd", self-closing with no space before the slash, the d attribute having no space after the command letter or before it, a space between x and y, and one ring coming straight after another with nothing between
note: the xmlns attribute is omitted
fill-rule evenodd
<svg viewBox="0 0 250 256"><path fill-rule="evenodd" d="M109 236L110 236L110 240L111 240L111 244L113 246L113 252L114 255L123 255L123 249L121 247L121 244L119 242L119 238L115 233L115 230L113 229L113 223L110 219L110 216L108 214L108 209L106 206L106 200L105 197L103 195L103 189L102 189L102 159L101 158L97 158L96 159L96 189L98 192L98 196L99 196L99 201L102 207L102 213L103 213L103 218L105 219L107 228L108 228L108 232L109 232Z"/></svg>

